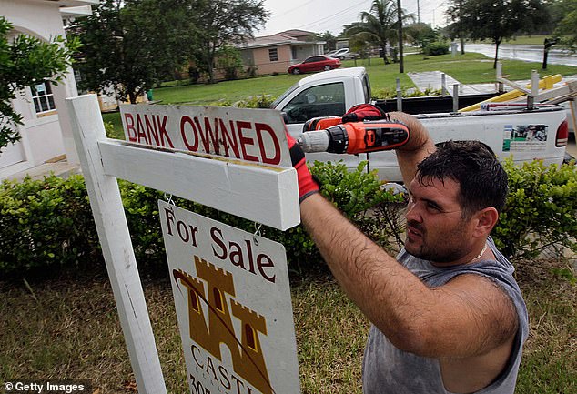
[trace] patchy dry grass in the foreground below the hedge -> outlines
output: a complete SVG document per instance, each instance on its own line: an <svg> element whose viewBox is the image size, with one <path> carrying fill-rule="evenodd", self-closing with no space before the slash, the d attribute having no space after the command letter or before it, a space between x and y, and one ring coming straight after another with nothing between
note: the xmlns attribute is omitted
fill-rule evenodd
<svg viewBox="0 0 577 394"><path fill-rule="evenodd" d="M532 261L517 270L531 334L516 393L577 392L577 298L559 273L566 262ZM167 279L143 284L169 393L187 392L185 363ZM134 393L135 380L104 275L0 282L0 376L90 379L98 394ZM328 275L292 278L301 392L360 394L369 324Z"/></svg>

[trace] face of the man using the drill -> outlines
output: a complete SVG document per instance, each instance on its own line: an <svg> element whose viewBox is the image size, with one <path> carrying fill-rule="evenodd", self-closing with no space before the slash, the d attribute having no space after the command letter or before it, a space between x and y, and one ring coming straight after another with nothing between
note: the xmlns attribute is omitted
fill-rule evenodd
<svg viewBox="0 0 577 394"><path fill-rule="evenodd" d="M471 220L463 218L460 186L452 179L413 179L409 185L407 240L413 256L443 265L461 262L472 246Z"/></svg>

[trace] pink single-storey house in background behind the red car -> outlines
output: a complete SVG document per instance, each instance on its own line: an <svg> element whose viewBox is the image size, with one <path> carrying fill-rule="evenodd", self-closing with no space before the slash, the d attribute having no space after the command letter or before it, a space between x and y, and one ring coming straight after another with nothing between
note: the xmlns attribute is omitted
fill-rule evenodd
<svg viewBox="0 0 577 394"><path fill-rule="evenodd" d="M287 30L256 37L238 47L244 66L256 66L258 75L286 73L290 65L313 55L322 55L325 41L304 30Z"/></svg>

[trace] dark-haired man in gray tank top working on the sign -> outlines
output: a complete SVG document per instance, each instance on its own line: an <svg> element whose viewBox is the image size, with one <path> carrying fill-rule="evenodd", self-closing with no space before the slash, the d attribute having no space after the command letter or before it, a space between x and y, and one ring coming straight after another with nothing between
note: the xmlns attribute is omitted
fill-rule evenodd
<svg viewBox="0 0 577 394"><path fill-rule="evenodd" d="M490 237L507 176L479 142L437 148L420 122L397 149L410 193L398 259L365 237L318 193L289 140L304 226L341 287L372 323L366 394L513 393L527 311L513 268Z"/></svg>

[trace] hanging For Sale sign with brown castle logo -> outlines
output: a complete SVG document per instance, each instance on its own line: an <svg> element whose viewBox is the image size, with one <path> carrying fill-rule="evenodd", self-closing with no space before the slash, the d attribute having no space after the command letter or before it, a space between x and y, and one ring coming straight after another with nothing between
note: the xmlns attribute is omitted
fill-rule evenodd
<svg viewBox="0 0 577 394"><path fill-rule="evenodd" d="M158 202L191 394L299 393L285 249Z"/></svg>

